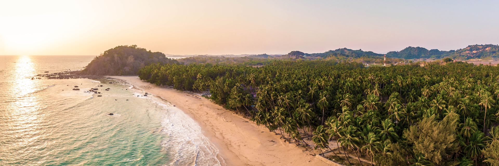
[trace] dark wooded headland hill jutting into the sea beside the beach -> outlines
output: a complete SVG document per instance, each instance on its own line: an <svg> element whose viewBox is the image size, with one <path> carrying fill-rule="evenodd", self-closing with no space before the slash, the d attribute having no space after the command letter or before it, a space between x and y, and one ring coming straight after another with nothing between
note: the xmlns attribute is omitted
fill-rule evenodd
<svg viewBox="0 0 499 166"><path fill-rule="evenodd" d="M152 63L177 63L161 52L151 52L137 45L121 45L96 56L81 71L87 75L135 75L137 71Z"/></svg>

